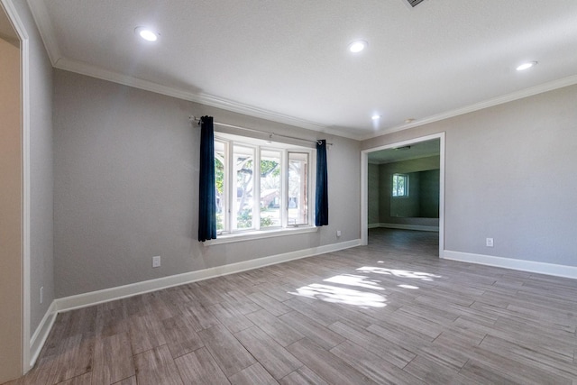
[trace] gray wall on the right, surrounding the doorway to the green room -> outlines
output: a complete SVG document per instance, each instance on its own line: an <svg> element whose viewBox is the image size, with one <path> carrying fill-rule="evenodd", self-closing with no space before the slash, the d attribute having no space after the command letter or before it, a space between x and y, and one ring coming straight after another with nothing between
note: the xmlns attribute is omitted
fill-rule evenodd
<svg viewBox="0 0 577 385"><path fill-rule="evenodd" d="M575 105L577 86L563 87L362 149L445 132L445 250L577 266Z"/></svg>

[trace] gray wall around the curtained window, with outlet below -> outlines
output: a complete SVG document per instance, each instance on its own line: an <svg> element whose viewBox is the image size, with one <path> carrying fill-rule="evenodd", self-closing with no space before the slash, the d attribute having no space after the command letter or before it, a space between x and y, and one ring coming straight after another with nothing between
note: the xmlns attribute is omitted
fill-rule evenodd
<svg viewBox="0 0 577 385"><path fill-rule="evenodd" d="M58 298L360 238L359 142L62 70L54 85ZM274 242L198 243L200 130L189 115L334 142L330 225Z"/></svg>

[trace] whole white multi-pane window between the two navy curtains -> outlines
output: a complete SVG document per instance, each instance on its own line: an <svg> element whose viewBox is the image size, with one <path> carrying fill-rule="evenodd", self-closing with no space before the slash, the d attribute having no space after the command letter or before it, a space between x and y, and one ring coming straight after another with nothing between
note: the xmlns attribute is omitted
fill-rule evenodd
<svg viewBox="0 0 577 385"><path fill-rule="evenodd" d="M307 147L216 133L217 233L311 225L314 154Z"/></svg>

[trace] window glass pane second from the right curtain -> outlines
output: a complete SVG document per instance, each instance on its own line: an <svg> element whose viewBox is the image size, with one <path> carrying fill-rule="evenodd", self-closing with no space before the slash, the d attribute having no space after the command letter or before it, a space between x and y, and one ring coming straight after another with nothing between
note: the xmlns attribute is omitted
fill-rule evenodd
<svg viewBox="0 0 577 385"><path fill-rule="evenodd" d="M261 151L261 228L281 225L280 152Z"/></svg>

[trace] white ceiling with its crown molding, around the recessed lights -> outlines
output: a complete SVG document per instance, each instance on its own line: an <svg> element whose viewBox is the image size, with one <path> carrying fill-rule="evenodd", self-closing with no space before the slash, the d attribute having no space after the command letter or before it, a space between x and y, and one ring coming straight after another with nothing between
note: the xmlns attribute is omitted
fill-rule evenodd
<svg viewBox="0 0 577 385"><path fill-rule="evenodd" d="M577 83L575 0L29 3L56 68L355 139Z"/></svg>

